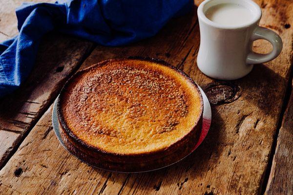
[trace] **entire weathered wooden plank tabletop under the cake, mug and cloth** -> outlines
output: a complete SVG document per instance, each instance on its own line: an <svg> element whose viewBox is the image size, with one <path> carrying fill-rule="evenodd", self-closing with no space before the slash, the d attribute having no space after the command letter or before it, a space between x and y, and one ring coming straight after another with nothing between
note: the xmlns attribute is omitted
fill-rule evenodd
<svg viewBox="0 0 293 195"><path fill-rule="evenodd" d="M197 68L196 7L155 37L124 47L47 35L25 84L0 100L0 194L293 194L293 1L256 1L263 11L260 25L280 34L284 48L277 59L231 82L210 79ZM14 9L20 4L0 0L0 41L17 34ZM258 52L270 49L265 41L253 46ZM127 56L159 58L179 67L204 89L212 106L203 144L159 171L92 168L66 152L52 128L52 104L70 75Z"/></svg>

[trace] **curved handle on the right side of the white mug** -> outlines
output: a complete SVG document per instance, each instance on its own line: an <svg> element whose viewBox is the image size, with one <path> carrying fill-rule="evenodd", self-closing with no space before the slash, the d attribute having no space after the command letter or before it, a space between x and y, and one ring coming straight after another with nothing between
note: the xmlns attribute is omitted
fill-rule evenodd
<svg viewBox="0 0 293 195"><path fill-rule="evenodd" d="M249 65L262 64L275 59L282 51L283 42L280 36L272 30L264 27L257 26L252 33L251 40L264 39L272 44L272 52L268 54L260 54L251 51L247 58L246 63Z"/></svg>

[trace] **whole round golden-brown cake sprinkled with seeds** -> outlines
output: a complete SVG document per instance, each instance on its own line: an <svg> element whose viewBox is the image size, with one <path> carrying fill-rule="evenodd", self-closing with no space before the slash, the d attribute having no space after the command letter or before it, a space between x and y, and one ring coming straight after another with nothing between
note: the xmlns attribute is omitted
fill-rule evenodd
<svg viewBox="0 0 293 195"><path fill-rule="evenodd" d="M112 59L73 75L57 111L65 144L84 161L138 171L192 150L203 100L194 81L164 61Z"/></svg>

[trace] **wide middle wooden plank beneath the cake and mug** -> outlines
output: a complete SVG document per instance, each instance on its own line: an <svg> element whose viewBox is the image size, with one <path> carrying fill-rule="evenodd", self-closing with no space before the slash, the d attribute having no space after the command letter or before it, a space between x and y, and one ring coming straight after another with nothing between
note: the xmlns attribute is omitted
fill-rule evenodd
<svg viewBox="0 0 293 195"><path fill-rule="evenodd" d="M183 161L150 173L110 173L77 160L59 144L50 107L0 171L3 194L259 194L292 68L293 4L257 1L262 26L283 39L281 55L255 65L243 79L216 81L196 66L196 9L169 23L157 36L125 47L97 46L81 68L108 58L149 56L184 70L206 91L212 125L203 144ZM254 50L271 45L259 41Z"/></svg>

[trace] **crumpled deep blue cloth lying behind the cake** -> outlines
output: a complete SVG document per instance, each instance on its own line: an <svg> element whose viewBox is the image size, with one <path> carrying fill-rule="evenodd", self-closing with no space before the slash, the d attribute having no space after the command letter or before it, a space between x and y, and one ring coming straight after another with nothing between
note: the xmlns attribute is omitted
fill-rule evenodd
<svg viewBox="0 0 293 195"><path fill-rule="evenodd" d="M155 35L191 0L67 0L24 3L16 10L19 35L0 43L0 97L27 78L42 36L52 30L107 46Z"/></svg>

